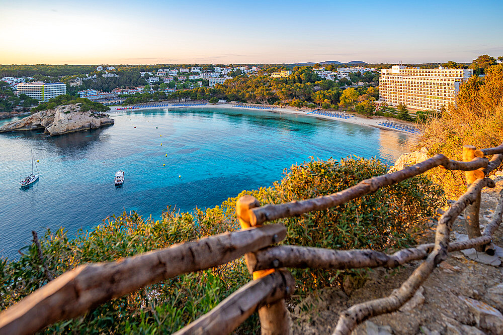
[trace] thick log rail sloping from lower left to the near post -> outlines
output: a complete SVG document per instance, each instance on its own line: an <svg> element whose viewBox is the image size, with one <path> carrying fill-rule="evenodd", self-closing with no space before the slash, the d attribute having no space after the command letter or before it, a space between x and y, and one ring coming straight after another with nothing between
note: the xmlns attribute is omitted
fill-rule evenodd
<svg viewBox="0 0 503 335"><path fill-rule="evenodd" d="M177 244L116 262L78 266L2 312L0 333L34 333L148 284L225 264L285 236L283 225L269 225Z"/></svg>

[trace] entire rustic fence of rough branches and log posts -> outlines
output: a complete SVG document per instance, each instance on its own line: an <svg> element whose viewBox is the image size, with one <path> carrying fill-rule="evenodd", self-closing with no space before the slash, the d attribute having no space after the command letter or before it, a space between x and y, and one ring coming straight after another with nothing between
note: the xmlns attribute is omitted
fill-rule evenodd
<svg viewBox="0 0 503 335"><path fill-rule="evenodd" d="M484 155L493 156L488 160ZM78 266L2 311L0 334L34 333L146 285L213 268L242 255L245 256L249 272L253 274L253 280L176 334L229 333L255 311L259 313L263 334L286 334L289 332L289 318L285 298L295 290L294 279L286 268L394 268L413 260L424 260L390 296L359 303L342 312L333 333L349 334L370 317L398 310L433 270L447 259L449 252L476 248L494 254L492 234L501 224L503 191L499 194L492 221L483 233L480 232L478 212L482 188L495 186L486 175L496 169L502 160L503 144L481 150L464 146L463 162L435 155L403 170L366 179L340 192L313 199L261 207L254 197L243 196L236 204L241 230L176 244L115 262ZM262 226L267 221L338 206L435 167L465 171L469 185L466 193L440 217L435 243L403 249L392 255L374 250L273 246L286 237L286 228L281 224ZM466 210L468 240L449 243L453 222L463 210ZM49 274L48 269L45 271Z"/></svg>

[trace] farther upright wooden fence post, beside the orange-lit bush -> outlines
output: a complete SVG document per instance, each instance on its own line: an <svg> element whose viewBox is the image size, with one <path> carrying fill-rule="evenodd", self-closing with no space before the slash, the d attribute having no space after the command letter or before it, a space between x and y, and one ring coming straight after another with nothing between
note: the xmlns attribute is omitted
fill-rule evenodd
<svg viewBox="0 0 503 335"><path fill-rule="evenodd" d="M469 162L475 157L483 157L484 154L482 151L477 150L474 146L465 145L463 146L463 162ZM466 183L467 186L470 186L475 180L479 178L484 178L483 169L478 169L474 171L465 171ZM466 206L465 209L465 228L468 233L469 239L474 239L482 236L480 233L480 224L479 224L479 211L480 211L480 193L478 193L475 201ZM483 246L475 247L477 251L484 251Z"/></svg>

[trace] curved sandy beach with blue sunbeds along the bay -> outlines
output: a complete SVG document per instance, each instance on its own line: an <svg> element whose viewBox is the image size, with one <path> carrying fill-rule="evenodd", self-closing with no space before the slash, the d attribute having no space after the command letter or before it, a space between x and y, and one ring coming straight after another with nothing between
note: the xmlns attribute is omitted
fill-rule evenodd
<svg viewBox="0 0 503 335"><path fill-rule="evenodd" d="M190 103L190 102L186 102L186 103ZM332 117L318 115L318 114L308 114L310 110L296 109L293 107L291 107L291 108L290 107L276 107L273 110L268 110L268 109L236 107L231 103L216 103L216 104L207 103L206 105L199 105L199 106L198 105L196 105L196 106L173 106L173 104L174 103L170 103L167 107L140 107L140 108L135 108L135 109L121 109L121 110L117 110L117 108L121 108L124 106L120 106L120 105L119 106L110 106L109 113L114 113L115 111L120 112L120 111L135 111L135 110L142 110L142 109L165 109L165 108L175 109L175 108L188 108L188 107L189 108L206 108L206 109L207 108L232 108L232 109L237 109L237 110L243 110L243 109L250 110L251 109L251 110L268 111L270 113L289 113L289 114L303 115L303 116L315 117L315 118L331 120L331 121L347 122L347 123L352 123L355 125L375 127L375 128L387 130L390 132L398 132L398 133L407 134L410 136L417 136L417 135L411 134L409 132L401 131L398 129L390 129L390 128L380 126L379 123L382 121L392 121L392 122L395 122L395 123L401 124L401 125L415 126L411 122L405 122L405 121L400 121L400 120L395 120L395 119L390 119L390 118L385 118L385 117L373 117L372 119L367 119L365 117L356 116L356 115L348 113L348 115L350 115L351 118L340 119L340 118L332 118ZM262 106L262 105L257 105L257 106Z"/></svg>

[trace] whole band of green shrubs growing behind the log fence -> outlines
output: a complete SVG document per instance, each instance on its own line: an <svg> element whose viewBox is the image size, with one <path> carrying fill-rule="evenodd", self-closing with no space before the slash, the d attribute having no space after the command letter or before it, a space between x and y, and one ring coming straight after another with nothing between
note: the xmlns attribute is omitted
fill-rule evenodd
<svg viewBox="0 0 503 335"><path fill-rule="evenodd" d="M340 161L311 159L285 170L272 187L243 191L213 208L179 212L170 207L160 220L138 213L109 217L91 231L74 238L64 229L47 231L41 252L48 271L58 276L88 262L113 261L175 243L239 229L235 203L252 194L261 203L280 203L336 192L362 179L385 173L376 159L348 157ZM307 187L306 187L307 185ZM425 222L443 204L441 189L417 176L387 186L344 205L299 217L280 220L288 228L286 244L332 249L372 248L392 251L414 244ZM0 309L16 303L48 281L35 244L23 248L18 260L0 260ZM365 271L296 270L301 296L325 285L345 287L361 282ZM167 333L208 312L236 288L249 281L244 260L238 259L211 270L182 275L149 285L104 303L86 315L58 322L46 333ZM254 333L257 318L251 317L238 332Z"/></svg>

